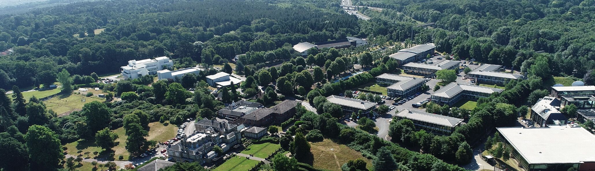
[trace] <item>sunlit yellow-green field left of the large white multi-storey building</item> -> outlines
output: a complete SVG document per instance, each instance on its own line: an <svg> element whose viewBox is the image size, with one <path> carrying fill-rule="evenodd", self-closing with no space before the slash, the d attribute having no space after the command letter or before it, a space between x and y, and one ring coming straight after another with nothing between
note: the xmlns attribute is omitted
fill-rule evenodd
<svg viewBox="0 0 595 171"><path fill-rule="evenodd" d="M84 98L84 102L82 99ZM85 103L90 103L93 101L103 102L105 101L104 98L100 97L85 97L82 94L62 94L61 96L54 97L45 101L44 103L48 107L48 109L54 110L58 115L68 114L73 111L83 109L83 105Z"/></svg>

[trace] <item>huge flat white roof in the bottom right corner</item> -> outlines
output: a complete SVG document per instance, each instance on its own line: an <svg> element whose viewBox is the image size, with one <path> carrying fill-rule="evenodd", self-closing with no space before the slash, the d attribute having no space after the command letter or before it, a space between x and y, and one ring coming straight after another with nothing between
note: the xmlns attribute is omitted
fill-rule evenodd
<svg viewBox="0 0 595 171"><path fill-rule="evenodd" d="M530 164L595 162L595 135L582 127L496 128Z"/></svg>

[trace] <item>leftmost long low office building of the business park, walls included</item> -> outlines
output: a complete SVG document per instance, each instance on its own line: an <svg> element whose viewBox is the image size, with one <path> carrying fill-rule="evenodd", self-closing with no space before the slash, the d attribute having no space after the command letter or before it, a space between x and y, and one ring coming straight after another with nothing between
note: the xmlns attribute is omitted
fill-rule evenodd
<svg viewBox="0 0 595 171"><path fill-rule="evenodd" d="M376 105L378 105L378 103L374 103L374 102L368 102L368 101L358 100L358 99L350 99L347 97L334 96L334 95L328 96L327 100L328 100L328 102L331 102L331 103L341 106L341 109L343 109L344 112L356 112L358 110L362 110L362 113L368 113L372 109L374 109L374 107Z"/></svg>

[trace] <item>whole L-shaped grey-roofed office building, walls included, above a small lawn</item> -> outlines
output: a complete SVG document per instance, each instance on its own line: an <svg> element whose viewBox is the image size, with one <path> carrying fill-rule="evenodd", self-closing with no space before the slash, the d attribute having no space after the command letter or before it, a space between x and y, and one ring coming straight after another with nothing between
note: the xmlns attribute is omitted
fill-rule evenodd
<svg viewBox="0 0 595 171"><path fill-rule="evenodd" d="M434 103L452 106L461 99L477 100L480 97L489 97L491 93L502 93L502 91L504 89L450 83L431 94L431 99Z"/></svg>

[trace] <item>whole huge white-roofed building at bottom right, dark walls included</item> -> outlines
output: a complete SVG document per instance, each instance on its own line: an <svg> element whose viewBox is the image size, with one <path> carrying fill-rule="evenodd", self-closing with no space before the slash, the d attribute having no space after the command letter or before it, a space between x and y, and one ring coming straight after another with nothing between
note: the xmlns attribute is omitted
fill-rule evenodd
<svg viewBox="0 0 595 171"><path fill-rule="evenodd" d="M595 170L595 136L580 126L496 128L511 158L527 171Z"/></svg>

